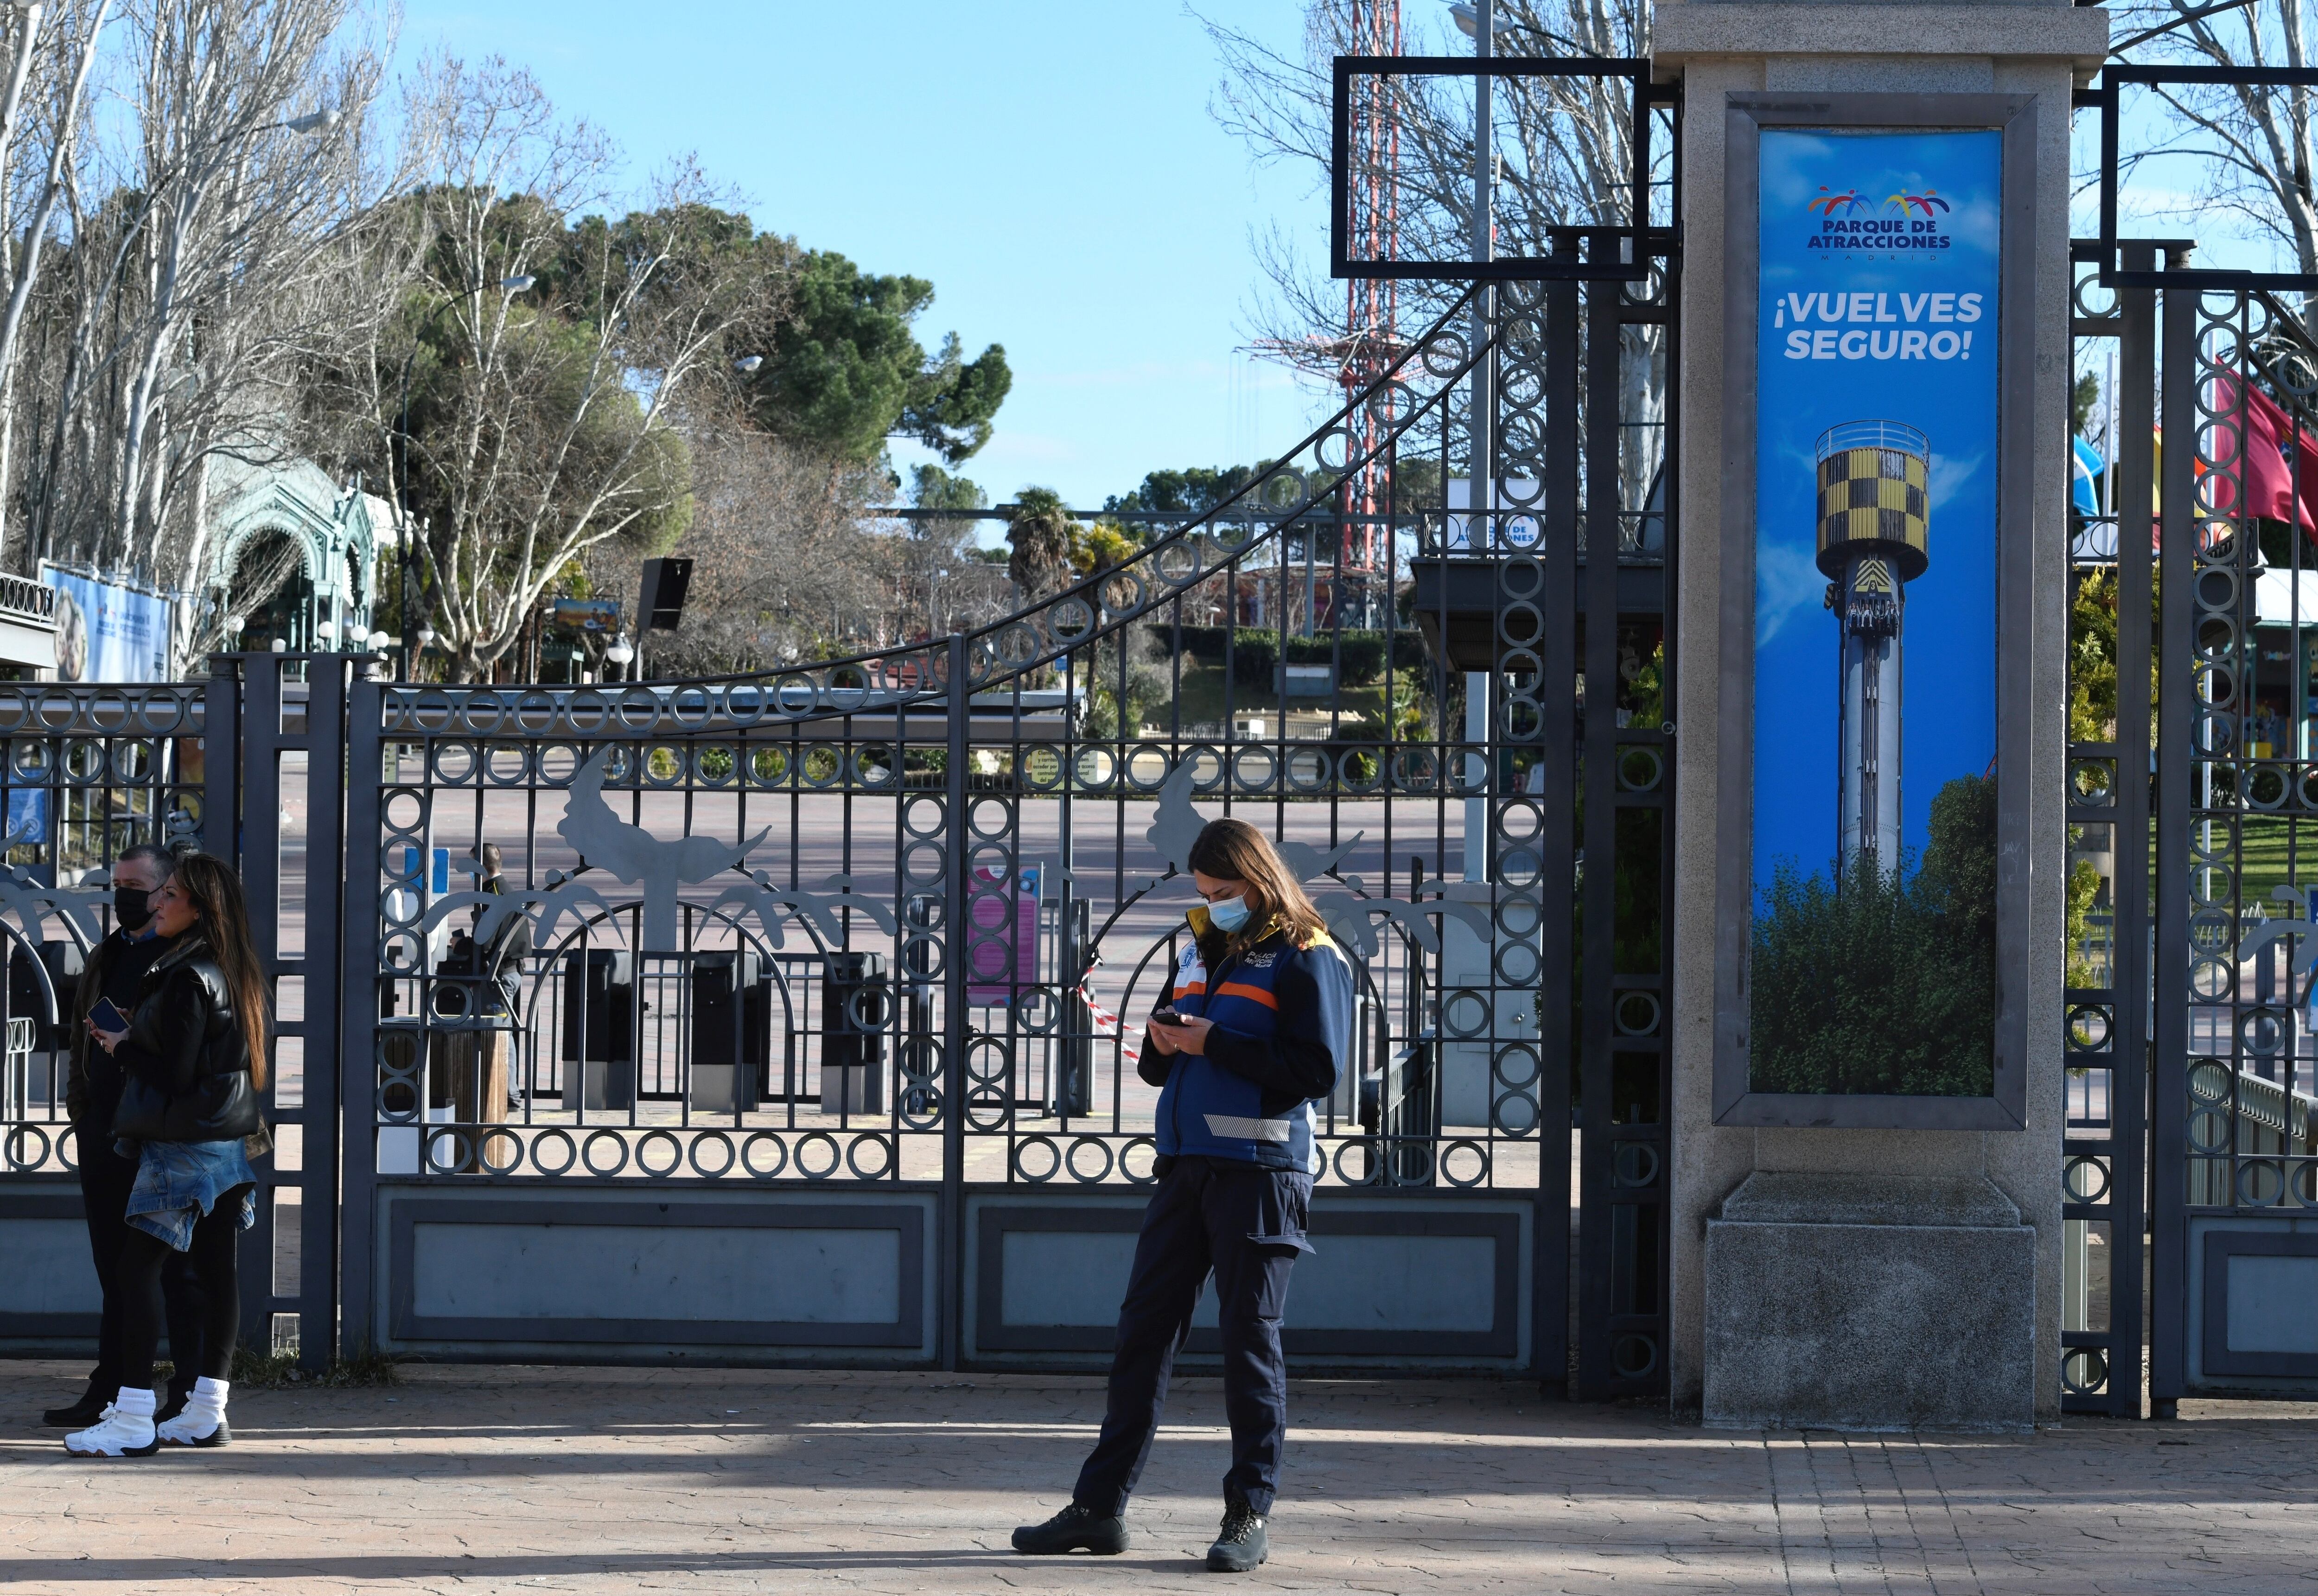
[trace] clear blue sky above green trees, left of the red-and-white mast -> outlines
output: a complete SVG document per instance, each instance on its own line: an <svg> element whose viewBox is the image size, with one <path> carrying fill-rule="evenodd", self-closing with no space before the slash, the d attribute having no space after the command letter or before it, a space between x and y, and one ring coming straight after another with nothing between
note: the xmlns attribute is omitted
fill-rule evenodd
<svg viewBox="0 0 2318 1596"><path fill-rule="evenodd" d="M1298 46L1296 0L1212 9ZM637 178L695 151L758 227L932 280L920 341L1013 364L964 466L994 500L1036 482L1101 505L1303 433L1305 394L1240 352L1249 234L1277 218L1326 259L1326 192L1215 123L1222 67L1180 0L406 0L403 58L433 44L529 65Z"/></svg>

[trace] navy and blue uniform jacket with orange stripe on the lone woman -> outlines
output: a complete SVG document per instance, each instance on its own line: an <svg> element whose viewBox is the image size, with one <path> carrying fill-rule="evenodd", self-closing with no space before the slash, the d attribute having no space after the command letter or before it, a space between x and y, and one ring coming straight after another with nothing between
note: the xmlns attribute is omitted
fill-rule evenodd
<svg viewBox="0 0 2318 1596"><path fill-rule="evenodd" d="M1208 968L1224 940L1205 908L1159 1008L1215 1022L1203 1054L1143 1049L1143 1079L1159 1086L1159 1151L1233 1158L1319 1174L1312 1100L1335 1091L1351 1059L1351 961L1326 936L1296 945L1270 931Z"/></svg>

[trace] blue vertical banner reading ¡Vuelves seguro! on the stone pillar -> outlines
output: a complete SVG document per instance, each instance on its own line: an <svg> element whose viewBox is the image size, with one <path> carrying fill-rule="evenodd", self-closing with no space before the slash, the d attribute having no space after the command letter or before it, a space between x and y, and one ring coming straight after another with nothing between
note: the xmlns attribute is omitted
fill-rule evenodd
<svg viewBox="0 0 2318 1596"><path fill-rule="evenodd" d="M2000 146L1762 132L1755 1091L1993 1089Z"/></svg>

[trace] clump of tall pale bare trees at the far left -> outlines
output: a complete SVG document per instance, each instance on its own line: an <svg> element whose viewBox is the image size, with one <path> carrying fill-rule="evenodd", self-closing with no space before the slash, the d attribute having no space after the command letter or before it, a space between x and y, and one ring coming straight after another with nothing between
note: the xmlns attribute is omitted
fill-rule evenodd
<svg viewBox="0 0 2318 1596"><path fill-rule="evenodd" d="M287 459L308 375L382 313L350 266L401 174L371 148L385 44L355 5L127 0L97 81L130 116L60 90L49 264L25 248L7 322L32 556L199 593L209 463Z"/></svg>

